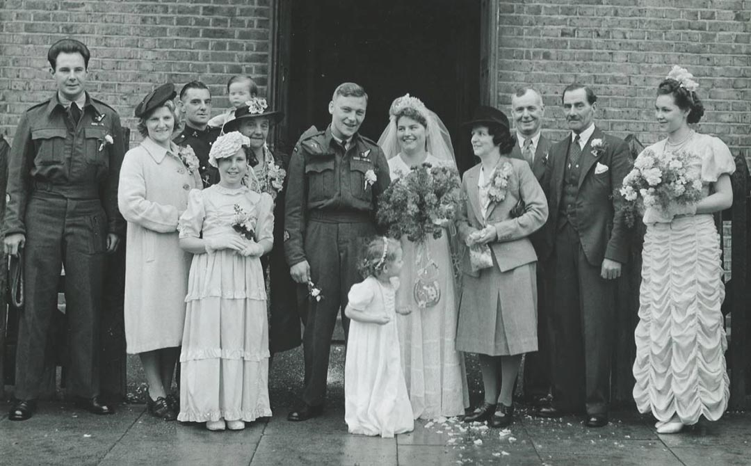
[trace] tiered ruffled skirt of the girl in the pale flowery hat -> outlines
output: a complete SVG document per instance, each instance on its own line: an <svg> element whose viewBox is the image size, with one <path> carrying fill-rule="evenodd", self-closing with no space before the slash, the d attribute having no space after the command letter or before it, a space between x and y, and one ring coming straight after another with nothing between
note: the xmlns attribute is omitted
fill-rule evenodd
<svg viewBox="0 0 751 466"><path fill-rule="evenodd" d="M271 416L266 291L258 258L193 258L180 354L182 422Z"/></svg>

